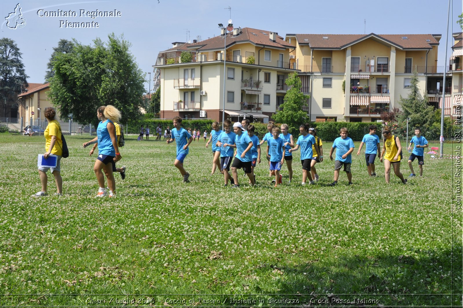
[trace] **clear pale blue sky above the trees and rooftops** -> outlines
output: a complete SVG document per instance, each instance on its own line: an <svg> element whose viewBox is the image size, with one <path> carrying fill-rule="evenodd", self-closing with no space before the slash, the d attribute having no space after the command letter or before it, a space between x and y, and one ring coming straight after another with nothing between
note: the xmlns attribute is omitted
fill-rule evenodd
<svg viewBox="0 0 463 308"><path fill-rule="evenodd" d="M22 7L26 24L9 29L5 17ZM231 6L231 12L228 9ZM131 53L145 72L152 71L157 53L172 47L175 41L207 39L219 35L217 24L233 20L235 27L252 27L287 33L323 34L442 34L438 65L445 65L444 42L448 1L389 0L389 1L212 1L212 0L108 0L108 1L2 1L1 35L13 39L23 54L29 82L42 83L46 64L60 39L77 39L91 44L99 37L107 40L114 32L124 34L131 44ZM76 17L40 17L43 9L73 11ZM120 12L120 17L79 17L80 10ZM450 8L449 51L453 45L452 32L461 29L456 23L463 11L462 0L452 0ZM98 22L96 28L60 27L60 20L69 22ZM366 25L364 23L366 21ZM148 75L147 75L148 80ZM152 86L152 84L151 84ZM148 91L148 82L145 85Z"/></svg>

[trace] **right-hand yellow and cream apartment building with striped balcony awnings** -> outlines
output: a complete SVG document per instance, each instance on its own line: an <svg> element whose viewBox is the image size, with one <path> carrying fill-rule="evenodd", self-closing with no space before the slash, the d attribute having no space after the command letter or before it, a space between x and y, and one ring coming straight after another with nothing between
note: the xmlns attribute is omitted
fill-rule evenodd
<svg viewBox="0 0 463 308"><path fill-rule="evenodd" d="M287 34L292 64L310 83L312 121L370 122L399 107L417 68L422 94L438 96L440 34ZM439 83L440 80L440 83ZM436 94L431 94L435 91Z"/></svg>

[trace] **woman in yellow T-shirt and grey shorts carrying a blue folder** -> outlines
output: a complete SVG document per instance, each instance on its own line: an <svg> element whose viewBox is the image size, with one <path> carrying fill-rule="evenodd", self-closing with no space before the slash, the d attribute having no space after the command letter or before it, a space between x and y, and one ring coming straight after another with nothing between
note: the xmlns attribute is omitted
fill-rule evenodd
<svg viewBox="0 0 463 308"><path fill-rule="evenodd" d="M63 179L61 178L61 166L60 161L63 155L63 141L61 140L61 126L58 121L55 120L55 109L48 107L44 111L45 118L47 119L48 125L44 131L45 137L45 154L44 157L48 158L50 154L57 156L56 167L39 167L38 174L40 175L40 183L42 184L42 190L36 194L35 197L41 197L47 195L47 171L50 169L51 174L55 177L56 190L55 195L61 196L63 194Z"/></svg>

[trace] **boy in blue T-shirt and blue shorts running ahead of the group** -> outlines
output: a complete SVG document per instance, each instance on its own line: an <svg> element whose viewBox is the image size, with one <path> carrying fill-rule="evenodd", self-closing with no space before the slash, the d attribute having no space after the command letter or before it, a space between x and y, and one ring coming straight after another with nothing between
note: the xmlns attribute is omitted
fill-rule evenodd
<svg viewBox="0 0 463 308"><path fill-rule="evenodd" d="M172 137L167 140L167 143L175 142L177 143L177 157L174 161L174 166L180 171L180 174L183 176L184 182L189 182L188 177L190 173L186 172L183 168L183 160L188 154L191 141L193 141L193 137L188 134L185 128L181 127L181 117L175 116L173 119L174 128L172 129Z"/></svg>

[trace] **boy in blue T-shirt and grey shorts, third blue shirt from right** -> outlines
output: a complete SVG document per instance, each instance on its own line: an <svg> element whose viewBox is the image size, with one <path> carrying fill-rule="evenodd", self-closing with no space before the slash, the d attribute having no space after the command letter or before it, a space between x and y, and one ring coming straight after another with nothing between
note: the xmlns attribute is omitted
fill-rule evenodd
<svg viewBox="0 0 463 308"><path fill-rule="evenodd" d="M347 135L349 130L345 127L339 130L340 137L336 138L333 142L332 148L330 150L330 160L333 160L333 152L336 148L336 160L334 161L334 181L331 183L331 186L338 184L339 170L344 166L344 171L347 174L347 180L349 180L349 185L352 184L352 173L350 172L350 164L352 162L352 155L354 151L354 141Z"/></svg>

